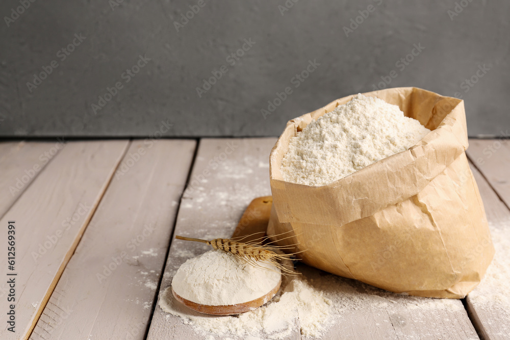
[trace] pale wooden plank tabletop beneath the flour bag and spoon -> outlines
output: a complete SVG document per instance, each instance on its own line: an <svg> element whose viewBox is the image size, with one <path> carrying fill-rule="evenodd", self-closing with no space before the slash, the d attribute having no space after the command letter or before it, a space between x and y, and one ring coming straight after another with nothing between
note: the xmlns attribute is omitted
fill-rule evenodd
<svg viewBox="0 0 510 340"><path fill-rule="evenodd" d="M2 247L10 221L16 230L14 270L7 249L0 258L0 338L203 338L157 305L175 270L205 251L172 235L230 236L248 203L270 195L275 141L0 142ZM467 153L493 232L510 238L510 141L471 140ZM7 277L16 282L15 333L6 323ZM439 307L338 282L359 287L350 296L358 308L324 338L510 338L510 310L494 298L508 282L482 281ZM392 302L382 312L370 303L377 296ZM291 338L299 337L296 329Z"/></svg>

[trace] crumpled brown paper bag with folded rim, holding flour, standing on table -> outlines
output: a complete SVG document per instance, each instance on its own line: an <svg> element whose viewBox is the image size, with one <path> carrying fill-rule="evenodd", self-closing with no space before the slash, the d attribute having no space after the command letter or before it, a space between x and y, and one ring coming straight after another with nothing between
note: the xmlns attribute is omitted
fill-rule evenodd
<svg viewBox="0 0 510 340"><path fill-rule="evenodd" d="M349 101L327 104L287 123L270 156L273 207L267 233L288 232L304 263L382 289L463 298L493 255L487 218L469 168L462 100L418 88L365 93L397 104L431 132L409 150L329 185L283 180L289 140Z"/></svg>

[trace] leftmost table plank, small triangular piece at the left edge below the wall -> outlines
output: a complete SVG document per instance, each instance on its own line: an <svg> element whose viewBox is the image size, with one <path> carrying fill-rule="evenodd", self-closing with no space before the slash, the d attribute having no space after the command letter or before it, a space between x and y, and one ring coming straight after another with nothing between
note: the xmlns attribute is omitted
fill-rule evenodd
<svg viewBox="0 0 510 340"><path fill-rule="evenodd" d="M0 142L0 218L63 146L61 142Z"/></svg>

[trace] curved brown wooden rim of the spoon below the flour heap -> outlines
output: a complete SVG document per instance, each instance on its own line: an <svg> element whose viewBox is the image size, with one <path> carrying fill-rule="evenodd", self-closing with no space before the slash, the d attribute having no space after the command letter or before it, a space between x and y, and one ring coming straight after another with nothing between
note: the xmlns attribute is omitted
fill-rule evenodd
<svg viewBox="0 0 510 340"><path fill-rule="evenodd" d="M258 308L271 300L273 296L278 292L280 289L280 285L282 284L282 279L278 281L278 284L267 294L261 296L260 298L257 298L255 300L251 300L248 302L238 303L235 305L224 305L224 306L210 306L210 305L202 305L200 303L192 302L189 300L186 300L185 298L177 295L173 291L172 287L172 294L175 297L175 299L179 302L181 302L183 305L196 310L200 313L206 313L206 314L212 314L212 315L236 315L240 313L244 313L248 310L253 310L255 308Z"/></svg>

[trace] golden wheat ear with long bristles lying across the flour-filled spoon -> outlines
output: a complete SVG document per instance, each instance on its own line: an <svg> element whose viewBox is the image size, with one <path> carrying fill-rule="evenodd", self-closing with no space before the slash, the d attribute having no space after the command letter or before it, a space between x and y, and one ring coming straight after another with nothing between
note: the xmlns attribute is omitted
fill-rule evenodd
<svg viewBox="0 0 510 340"><path fill-rule="evenodd" d="M208 240L201 240L201 239L195 239L195 238L187 238L187 237L178 236L178 235L175 236L175 238L178 240L205 243L209 246L212 246L213 249L222 250L226 253L233 254L237 258L242 259L246 263L248 263L256 268L270 270L269 268L266 268L259 264L260 262L266 262L266 263L269 263L269 264L279 268L282 271L282 274L284 274L284 275L296 275L297 274L295 271L292 270L293 266L282 264L281 261L292 260L293 256L297 253L300 253L301 251L295 252L295 253L289 253L289 254L279 254L278 253L284 249L292 249L293 246L295 246L297 244L292 244L289 246L274 246L274 245L269 245L272 242L269 242L266 245L261 245L259 243L254 242L257 240L261 240L260 242L264 242L268 239L268 237L262 237L262 238L259 238L257 240L254 240L254 241L251 241L248 243L240 242L243 239L253 236L253 235L254 234L245 236L244 238L242 238L240 240L214 239L214 240L208 241ZM279 235L277 235L277 236L279 236ZM282 239L282 240L284 240L284 239Z"/></svg>

